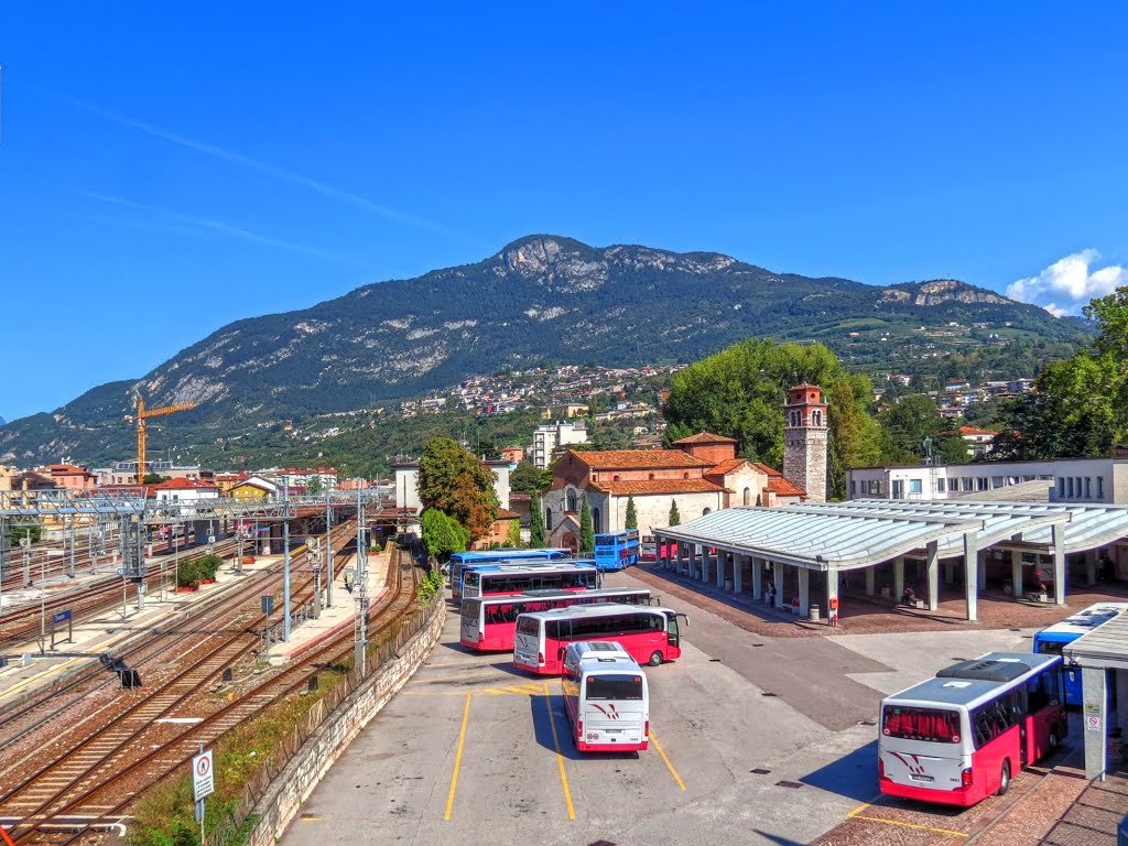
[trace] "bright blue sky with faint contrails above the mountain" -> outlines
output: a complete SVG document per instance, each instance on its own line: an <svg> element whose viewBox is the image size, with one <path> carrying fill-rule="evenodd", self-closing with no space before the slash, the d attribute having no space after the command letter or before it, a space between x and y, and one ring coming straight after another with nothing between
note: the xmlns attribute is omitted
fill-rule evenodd
<svg viewBox="0 0 1128 846"><path fill-rule="evenodd" d="M1126 30L1099 2L3 3L0 415L530 232L1075 311L1128 284Z"/></svg>

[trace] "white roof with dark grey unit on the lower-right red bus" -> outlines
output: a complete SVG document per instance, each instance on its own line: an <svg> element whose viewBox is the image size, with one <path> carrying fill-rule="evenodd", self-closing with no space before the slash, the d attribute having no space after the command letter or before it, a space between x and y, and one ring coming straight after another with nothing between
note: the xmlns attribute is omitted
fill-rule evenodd
<svg viewBox="0 0 1128 846"><path fill-rule="evenodd" d="M973 708L999 690L1014 687L1039 670L1060 661L1060 655L988 652L973 661L952 664L941 670L943 675L887 696L882 705L953 705ZM1005 679L999 680L999 677Z"/></svg>

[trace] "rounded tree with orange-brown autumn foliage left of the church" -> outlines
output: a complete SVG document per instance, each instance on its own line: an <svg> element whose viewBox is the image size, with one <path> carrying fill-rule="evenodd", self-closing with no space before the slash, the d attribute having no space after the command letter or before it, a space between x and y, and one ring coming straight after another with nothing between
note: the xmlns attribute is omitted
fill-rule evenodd
<svg viewBox="0 0 1128 846"><path fill-rule="evenodd" d="M470 532L485 537L497 519L493 470L450 438L432 438L420 458L418 494L424 509L453 517Z"/></svg>

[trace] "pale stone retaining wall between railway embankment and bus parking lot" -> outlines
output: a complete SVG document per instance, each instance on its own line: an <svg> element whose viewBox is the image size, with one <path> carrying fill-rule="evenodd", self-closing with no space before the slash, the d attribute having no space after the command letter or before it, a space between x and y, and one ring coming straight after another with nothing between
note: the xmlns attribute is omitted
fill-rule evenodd
<svg viewBox="0 0 1128 846"><path fill-rule="evenodd" d="M258 817L247 840L248 846L273 846L301 810L301 803L385 705L420 668L439 642L447 619L447 603L440 598L431 619L399 650L399 655L386 662L364 685L332 714L302 744L270 791L255 805Z"/></svg>

